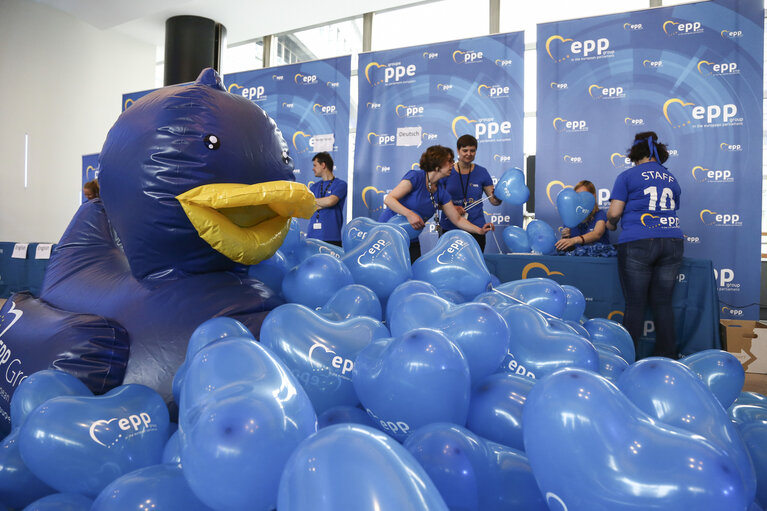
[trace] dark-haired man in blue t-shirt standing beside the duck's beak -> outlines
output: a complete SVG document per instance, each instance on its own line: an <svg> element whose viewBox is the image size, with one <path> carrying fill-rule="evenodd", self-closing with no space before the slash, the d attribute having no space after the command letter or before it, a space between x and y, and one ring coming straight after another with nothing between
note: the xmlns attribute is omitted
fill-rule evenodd
<svg viewBox="0 0 767 511"><path fill-rule="evenodd" d="M344 204L346 203L346 181L333 175L333 158L321 152L312 158L314 177L320 181L309 189L317 198L317 211L309 219L307 238L341 246L341 227L344 225Z"/></svg>

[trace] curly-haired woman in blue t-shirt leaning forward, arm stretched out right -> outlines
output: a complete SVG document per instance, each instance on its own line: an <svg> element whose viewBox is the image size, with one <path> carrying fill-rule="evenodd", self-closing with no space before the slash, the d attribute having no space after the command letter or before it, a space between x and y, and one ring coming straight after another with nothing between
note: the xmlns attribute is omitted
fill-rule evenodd
<svg viewBox="0 0 767 511"><path fill-rule="evenodd" d="M453 224L472 234L485 234L494 229L493 224L486 223L478 227L461 217L453 205L447 189L439 181L450 175L453 166L453 151L450 148L434 145L426 149L419 162L420 170L411 170L402 181L389 192L384 199L388 209L381 213L379 222L386 222L395 214L407 218L414 229L423 229L425 222L434 217L437 211L447 215ZM418 238L410 242L410 261L415 262L421 257L421 243Z"/></svg>

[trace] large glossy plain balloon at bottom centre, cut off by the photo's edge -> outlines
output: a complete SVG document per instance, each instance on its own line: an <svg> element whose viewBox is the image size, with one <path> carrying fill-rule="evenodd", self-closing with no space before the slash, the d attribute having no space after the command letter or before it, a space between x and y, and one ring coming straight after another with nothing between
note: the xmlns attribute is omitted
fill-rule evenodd
<svg viewBox="0 0 767 511"><path fill-rule="evenodd" d="M404 447L358 424L324 428L298 446L280 479L277 508L448 511L434 483Z"/></svg>

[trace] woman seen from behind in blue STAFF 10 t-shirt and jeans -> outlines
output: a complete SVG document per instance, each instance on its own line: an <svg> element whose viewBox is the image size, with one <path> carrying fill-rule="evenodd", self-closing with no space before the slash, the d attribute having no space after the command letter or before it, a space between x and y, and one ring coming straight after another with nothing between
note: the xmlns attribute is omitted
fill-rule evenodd
<svg viewBox="0 0 767 511"><path fill-rule="evenodd" d="M607 211L607 228L621 220L618 274L626 311L623 326L636 346L649 302L655 322L653 355L678 357L671 296L682 264L684 242L676 211L682 189L662 165L666 146L653 131L638 133L628 151L634 167L615 180Z"/></svg>

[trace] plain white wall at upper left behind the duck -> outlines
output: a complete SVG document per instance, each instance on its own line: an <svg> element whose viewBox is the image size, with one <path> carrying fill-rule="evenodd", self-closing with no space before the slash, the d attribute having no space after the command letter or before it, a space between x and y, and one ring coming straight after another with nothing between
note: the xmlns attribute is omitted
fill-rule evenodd
<svg viewBox="0 0 767 511"><path fill-rule="evenodd" d="M0 0L0 241L57 242L122 94L154 86L155 47L28 0ZM24 134L29 134L24 187Z"/></svg>

